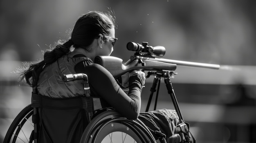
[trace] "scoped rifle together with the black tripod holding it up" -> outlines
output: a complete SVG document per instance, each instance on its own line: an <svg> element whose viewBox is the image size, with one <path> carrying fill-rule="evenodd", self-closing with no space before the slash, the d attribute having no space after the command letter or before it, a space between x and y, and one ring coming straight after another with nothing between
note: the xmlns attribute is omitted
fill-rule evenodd
<svg viewBox="0 0 256 143"><path fill-rule="evenodd" d="M148 75L146 76L149 77L150 75L155 75L153 85L150 88L151 93L148 99L146 112L148 112L153 93L156 91L155 88L158 84L154 110L156 109L159 84L162 77L164 77L166 88L168 93L171 95L173 105L179 116L180 124L177 125L176 129L179 134L181 133L182 143L195 143L195 138L189 131L189 124L185 123L182 117L170 79L173 78L173 74L175 74L174 71L176 70L177 66L219 69L220 65L157 58L156 56L164 56L165 48L163 46L148 46L148 42L142 42L142 45L134 42L128 42L126 47L129 51L135 51L135 54L132 55L130 59L125 63L123 63L122 59L112 56L97 56L95 57L94 62L105 67L114 76L117 83L119 84L121 83L119 81L121 79L121 75L130 72L131 70L155 70L155 72L148 72ZM131 66L133 64L130 63L134 62L134 60L137 60L137 63L134 66Z"/></svg>

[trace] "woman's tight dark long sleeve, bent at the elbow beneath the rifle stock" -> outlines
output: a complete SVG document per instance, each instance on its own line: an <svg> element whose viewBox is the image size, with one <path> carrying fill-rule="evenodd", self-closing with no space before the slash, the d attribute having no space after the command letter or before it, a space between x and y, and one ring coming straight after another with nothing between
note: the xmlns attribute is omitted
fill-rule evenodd
<svg viewBox="0 0 256 143"><path fill-rule="evenodd" d="M82 57L75 55L74 57ZM137 119L141 108L142 81L138 74L129 79L129 92L117 84L111 73L99 64L88 64L88 61L80 62L75 66L76 73L88 75L91 95L102 97L117 112L128 119Z"/></svg>

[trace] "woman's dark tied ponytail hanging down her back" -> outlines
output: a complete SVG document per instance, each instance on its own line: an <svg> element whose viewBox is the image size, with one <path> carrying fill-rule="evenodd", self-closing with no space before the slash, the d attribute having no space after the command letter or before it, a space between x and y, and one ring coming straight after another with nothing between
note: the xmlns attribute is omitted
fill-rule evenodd
<svg viewBox="0 0 256 143"><path fill-rule="evenodd" d="M44 60L36 63L36 64L31 64L24 73L22 73L22 79L25 78L27 84L31 87L35 87L38 81L38 77L47 64L52 64L55 62L58 58L62 57L63 55L67 54L70 52L70 47L74 43L72 40L68 40L64 44L58 44L54 49L48 50L44 54Z"/></svg>

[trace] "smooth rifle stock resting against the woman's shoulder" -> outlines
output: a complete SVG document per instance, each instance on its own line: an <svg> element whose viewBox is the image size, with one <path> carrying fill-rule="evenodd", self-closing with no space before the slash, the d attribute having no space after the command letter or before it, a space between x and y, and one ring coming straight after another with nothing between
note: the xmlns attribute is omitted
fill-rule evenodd
<svg viewBox="0 0 256 143"><path fill-rule="evenodd" d="M115 79L119 78L121 75L132 71L132 70L175 70L176 64L159 62L145 59L143 62L145 66L142 66L141 63L137 62L135 66L130 66L129 64L132 60L128 60L126 63L123 63L123 59L113 56L97 56L94 59L94 63L100 64L106 68Z"/></svg>

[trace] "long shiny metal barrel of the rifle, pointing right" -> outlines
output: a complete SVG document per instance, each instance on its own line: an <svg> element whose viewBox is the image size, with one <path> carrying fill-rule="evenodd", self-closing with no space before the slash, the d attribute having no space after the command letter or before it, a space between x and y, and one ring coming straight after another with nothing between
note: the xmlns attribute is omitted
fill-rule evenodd
<svg viewBox="0 0 256 143"><path fill-rule="evenodd" d="M218 65L218 64L186 62L186 61L179 61L179 60L173 60L173 59L151 58L151 57L143 57L143 56L137 56L137 59L148 59L148 60L152 60L152 61L166 62L166 63L170 63L170 64L177 64L177 66L192 66L192 67L212 68L212 69L220 68L220 65Z"/></svg>

